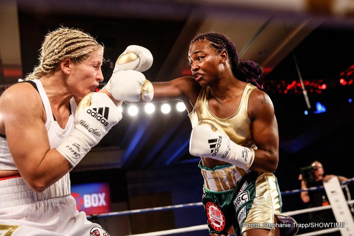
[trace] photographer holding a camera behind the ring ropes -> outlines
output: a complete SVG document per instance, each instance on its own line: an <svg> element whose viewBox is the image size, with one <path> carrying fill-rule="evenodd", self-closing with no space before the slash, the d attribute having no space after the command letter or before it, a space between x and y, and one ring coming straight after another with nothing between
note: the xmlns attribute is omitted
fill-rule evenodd
<svg viewBox="0 0 354 236"><path fill-rule="evenodd" d="M314 161L310 166L300 168L299 180L301 180L301 189L306 189L309 187L319 187L323 186L323 182L327 182L331 177L335 175L325 175L324 168L319 161ZM346 181L348 178L343 176L337 176L339 181ZM322 190L316 191L303 191L300 193L302 202L307 204L308 207L320 207L329 205L327 195ZM331 209L312 211L309 213L310 222L320 223L320 222L336 222L333 212ZM323 229L323 228L322 228ZM312 229L317 231L320 229ZM339 232L332 233L331 235L340 235Z"/></svg>

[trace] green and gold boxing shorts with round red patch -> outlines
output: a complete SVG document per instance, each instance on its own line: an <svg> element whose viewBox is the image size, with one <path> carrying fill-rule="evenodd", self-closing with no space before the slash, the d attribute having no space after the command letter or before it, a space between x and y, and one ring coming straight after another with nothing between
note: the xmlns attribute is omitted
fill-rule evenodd
<svg viewBox="0 0 354 236"><path fill-rule="evenodd" d="M204 172L203 205L210 236L241 236L246 230L275 229L275 227L279 227L282 236L295 235L298 230L295 220L281 214L282 199L277 179L273 174L243 173L245 175L241 175L243 177L234 184L235 188L219 191L220 187L215 189L208 187L226 186L214 182L222 183L222 179L235 180L235 176L240 176L240 170L232 165L222 166L216 170L200 167ZM214 179L207 176L213 176ZM274 221L274 216L277 222Z"/></svg>

